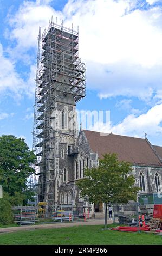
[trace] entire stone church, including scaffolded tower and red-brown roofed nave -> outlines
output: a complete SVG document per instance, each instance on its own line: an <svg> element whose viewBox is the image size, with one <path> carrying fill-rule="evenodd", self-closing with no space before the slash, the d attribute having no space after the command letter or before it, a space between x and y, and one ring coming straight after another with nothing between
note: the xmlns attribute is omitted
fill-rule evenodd
<svg viewBox="0 0 162 256"><path fill-rule="evenodd" d="M85 97L85 63L78 56L78 32L51 22L41 42L34 136L38 200L46 203L46 214L60 205L90 206L91 214L103 210L102 204L83 202L76 181L84 177L85 168L98 166L105 153L117 153L119 160L133 164L135 185L141 193L158 191L162 147L151 145L147 138L78 131L76 103Z"/></svg>

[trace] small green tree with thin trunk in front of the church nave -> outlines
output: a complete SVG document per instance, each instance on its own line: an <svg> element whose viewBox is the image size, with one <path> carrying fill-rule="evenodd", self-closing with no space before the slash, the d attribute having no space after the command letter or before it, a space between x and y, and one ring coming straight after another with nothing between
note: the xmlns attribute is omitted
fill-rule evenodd
<svg viewBox="0 0 162 256"><path fill-rule="evenodd" d="M136 201L139 188L134 186L134 176L127 176L131 171L131 163L118 161L117 154L106 154L98 167L86 169L85 178L77 181L80 196L91 203Z"/></svg>

